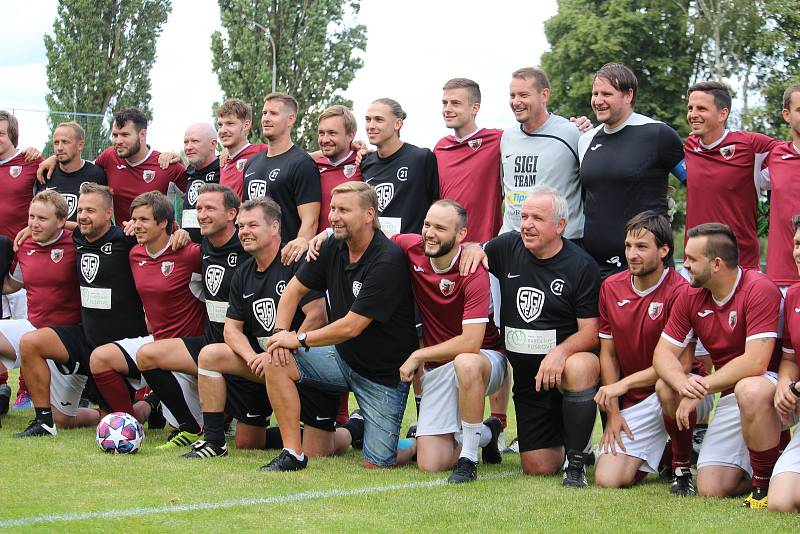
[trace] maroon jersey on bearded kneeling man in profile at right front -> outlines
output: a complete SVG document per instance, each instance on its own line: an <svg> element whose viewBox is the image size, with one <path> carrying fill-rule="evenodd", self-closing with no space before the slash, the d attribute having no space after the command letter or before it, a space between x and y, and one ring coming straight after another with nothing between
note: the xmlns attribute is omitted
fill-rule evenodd
<svg viewBox="0 0 800 534"><path fill-rule="evenodd" d="M781 298L778 287L764 274L739 269L733 291L722 303L705 288L679 291L661 336L685 347L694 331L719 369L741 356L751 339L778 337ZM769 369L777 367L778 359L773 357Z"/></svg>

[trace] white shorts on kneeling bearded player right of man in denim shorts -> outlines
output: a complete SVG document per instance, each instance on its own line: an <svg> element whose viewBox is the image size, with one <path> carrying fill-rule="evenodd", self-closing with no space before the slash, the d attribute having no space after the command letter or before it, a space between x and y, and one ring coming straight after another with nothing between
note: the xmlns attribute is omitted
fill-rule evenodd
<svg viewBox="0 0 800 534"><path fill-rule="evenodd" d="M506 375L506 357L496 350L481 349L492 366L486 395L498 390ZM419 407L417 436L439 436L461 431L458 409L458 380L453 362L426 371L422 375L422 403Z"/></svg>

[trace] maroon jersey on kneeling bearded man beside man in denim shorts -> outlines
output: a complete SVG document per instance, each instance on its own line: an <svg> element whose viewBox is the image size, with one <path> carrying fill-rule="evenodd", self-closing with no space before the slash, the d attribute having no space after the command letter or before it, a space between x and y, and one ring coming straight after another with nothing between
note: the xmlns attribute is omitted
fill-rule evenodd
<svg viewBox="0 0 800 534"><path fill-rule="evenodd" d="M414 300L422 314L424 345L438 345L461 335L462 325L486 323L481 348L500 350L500 335L494 321L489 320L489 273L481 266L473 274L459 275L460 255L456 255L453 265L447 271L437 272L433 269L430 258L425 255L422 236L395 234L392 240L400 246L408 259ZM426 367L436 365L432 362L426 363Z"/></svg>

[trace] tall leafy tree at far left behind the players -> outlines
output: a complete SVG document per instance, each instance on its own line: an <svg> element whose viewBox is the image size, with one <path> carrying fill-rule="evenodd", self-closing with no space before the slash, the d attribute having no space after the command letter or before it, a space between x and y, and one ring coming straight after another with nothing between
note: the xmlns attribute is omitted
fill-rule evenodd
<svg viewBox="0 0 800 534"><path fill-rule="evenodd" d="M171 10L170 0L59 0L53 35L44 36L46 101L51 111L106 117L83 125L87 146L108 146L115 110L150 114L150 69ZM60 120L50 117L51 130Z"/></svg>

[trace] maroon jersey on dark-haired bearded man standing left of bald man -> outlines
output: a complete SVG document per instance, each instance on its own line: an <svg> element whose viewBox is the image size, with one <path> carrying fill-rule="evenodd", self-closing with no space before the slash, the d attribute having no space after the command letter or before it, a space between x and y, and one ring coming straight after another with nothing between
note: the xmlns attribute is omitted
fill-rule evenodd
<svg viewBox="0 0 800 534"><path fill-rule="evenodd" d="M158 165L160 155L160 152L151 149L143 161L131 164L117 156L114 147L109 147L97 156L94 163L106 172L108 186L114 192L114 219L117 224L130 220L131 202L142 193L160 191L166 195L170 182L175 182L181 191L186 191L186 167L174 163L162 169Z"/></svg>

